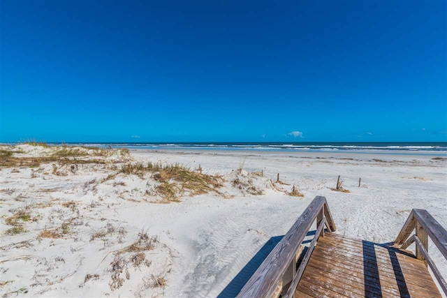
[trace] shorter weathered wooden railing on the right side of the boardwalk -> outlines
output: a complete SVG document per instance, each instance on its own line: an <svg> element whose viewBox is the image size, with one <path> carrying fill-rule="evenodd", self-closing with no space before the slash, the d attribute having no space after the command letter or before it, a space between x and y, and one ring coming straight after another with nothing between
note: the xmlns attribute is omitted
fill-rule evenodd
<svg viewBox="0 0 447 298"><path fill-rule="evenodd" d="M416 234L410 237L413 230L416 229ZM436 277L439 285L444 293L447 295L447 283L441 276L441 273L434 265L433 260L428 255L428 237L432 239L433 243L441 251L444 258L447 259L447 232L442 226L423 209L413 209L409 217L406 219L404 227L394 241L394 245L400 249L409 247L413 242L416 244L416 258L425 261L425 266L432 269L434 277Z"/></svg>

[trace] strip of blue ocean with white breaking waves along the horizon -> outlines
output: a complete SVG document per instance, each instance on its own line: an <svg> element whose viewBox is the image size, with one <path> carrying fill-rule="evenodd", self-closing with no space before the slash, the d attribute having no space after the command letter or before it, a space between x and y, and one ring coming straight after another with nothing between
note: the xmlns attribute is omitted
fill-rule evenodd
<svg viewBox="0 0 447 298"><path fill-rule="evenodd" d="M181 142L181 143L73 143L128 149L196 149L243 151L406 151L446 153L447 142Z"/></svg>

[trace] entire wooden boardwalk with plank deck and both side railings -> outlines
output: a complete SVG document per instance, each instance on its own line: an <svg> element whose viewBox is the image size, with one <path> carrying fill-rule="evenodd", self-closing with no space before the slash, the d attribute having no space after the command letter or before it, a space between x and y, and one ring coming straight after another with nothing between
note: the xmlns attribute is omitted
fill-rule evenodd
<svg viewBox="0 0 447 298"><path fill-rule="evenodd" d="M315 223L316 230L311 231ZM447 295L447 282L428 253L430 239L447 259L447 231L428 211L411 210L389 244L345 237L335 230L328 202L317 196L237 298L438 298L439 289ZM304 241L312 235L310 243ZM411 244L416 254L406 250Z"/></svg>

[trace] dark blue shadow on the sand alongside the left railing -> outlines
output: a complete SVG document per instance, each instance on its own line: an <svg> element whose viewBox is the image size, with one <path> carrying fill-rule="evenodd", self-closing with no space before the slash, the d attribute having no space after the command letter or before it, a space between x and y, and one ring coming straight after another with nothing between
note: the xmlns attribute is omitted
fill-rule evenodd
<svg viewBox="0 0 447 298"><path fill-rule="evenodd" d="M306 236L314 236L316 230L312 230L307 232ZM275 236L270 238L264 245L261 247L261 249L254 255L249 262L247 262L247 265L242 268L242 270L233 278L230 283L222 290L222 292L217 296L217 298L227 298L227 297L236 297L237 294L239 294L240 290L244 287L244 285L249 281L251 276L255 273L255 271L261 266L262 262L264 262L265 258L269 255L269 253L272 252L274 246L276 246L279 241L281 241L281 236ZM304 240L302 241L302 244L310 243L312 240ZM307 247L305 247L305 250L303 251L305 253L307 251ZM302 254L300 260L302 257L304 257L305 254ZM300 260L298 262L300 262Z"/></svg>

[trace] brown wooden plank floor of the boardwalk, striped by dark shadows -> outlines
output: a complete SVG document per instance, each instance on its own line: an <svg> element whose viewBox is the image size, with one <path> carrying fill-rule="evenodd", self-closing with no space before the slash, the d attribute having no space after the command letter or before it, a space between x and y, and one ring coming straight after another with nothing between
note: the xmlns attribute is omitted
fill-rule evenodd
<svg viewBox="0 0 447 298"><path fill-rule="evenodd" d="M318 239L295 297L441 297L412 253L326 233Z"/></svg>

